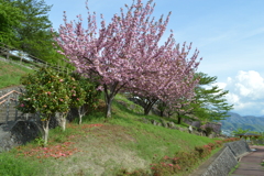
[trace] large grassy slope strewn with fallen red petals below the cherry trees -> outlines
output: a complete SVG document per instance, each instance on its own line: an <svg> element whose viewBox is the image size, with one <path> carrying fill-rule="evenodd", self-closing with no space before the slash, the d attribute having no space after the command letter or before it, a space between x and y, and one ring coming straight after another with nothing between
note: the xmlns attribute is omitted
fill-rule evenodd
<svg viewBox="0 0 264 176"><path fill-rule="evenodd" d="M72 122L65 132L51 130L48 146L41 147L37 143L42 140L35 140L0 154L0 175L111 176L122 168L150 172L151 164L158 163L164 156L173 157L176 152L190 152L195 146L215 141L143 123L143 117L156 121L160 118L142 116L139 113L142 109L122 96L117 100L128 106L116 101L110 120L105 120L101 103L98 112L86 117L81 125Z"/></svg>

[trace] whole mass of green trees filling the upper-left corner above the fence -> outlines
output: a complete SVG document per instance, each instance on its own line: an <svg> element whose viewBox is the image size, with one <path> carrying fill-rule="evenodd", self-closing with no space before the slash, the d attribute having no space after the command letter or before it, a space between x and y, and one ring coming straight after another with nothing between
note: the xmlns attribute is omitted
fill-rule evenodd
<svg viewBox="0 0 264 176"><path fill-rule="evenodd" d="M44 0L0 0L0 40L2 43L53 64L64 64L51 32ZM56 34L55 34L56 35ZM56 47L54 47L55 43Z"/></svg>

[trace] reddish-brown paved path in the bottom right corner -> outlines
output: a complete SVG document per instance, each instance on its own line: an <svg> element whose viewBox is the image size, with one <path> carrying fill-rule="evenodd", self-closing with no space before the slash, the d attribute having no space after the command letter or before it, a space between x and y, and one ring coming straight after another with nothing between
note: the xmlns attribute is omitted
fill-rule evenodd
<svg viewBox="0 0 264 176"><path fill-rule="evenodd" d="M264 166L261 165L264 160L264 146L252 145L250 147L256 151L241 158L232 176L264 176Z"/></svg>

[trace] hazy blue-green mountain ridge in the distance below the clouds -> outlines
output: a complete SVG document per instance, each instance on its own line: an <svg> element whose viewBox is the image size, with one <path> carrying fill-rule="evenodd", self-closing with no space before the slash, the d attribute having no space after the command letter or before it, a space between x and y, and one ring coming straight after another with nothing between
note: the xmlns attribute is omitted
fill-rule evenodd
<svg viewBox="0 0 264 176"><path fill-rule="evenodd" d="M226 120L222 120L222 130L223 131L233 131L237 129L250 130L250 131L264 131L264 116L254 117L254 116L244 116L241 117L239 113L229 112Z"/></svg>

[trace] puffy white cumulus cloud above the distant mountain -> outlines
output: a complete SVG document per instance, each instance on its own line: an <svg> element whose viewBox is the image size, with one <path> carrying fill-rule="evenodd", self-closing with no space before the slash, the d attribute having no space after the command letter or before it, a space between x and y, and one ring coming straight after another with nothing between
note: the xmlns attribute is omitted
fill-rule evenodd
<svg viewBox="0 0 264 176"><path fill-rule="evenodd" d="M245 116L264 114L264 78L255 70L240 70L234 78L228 77L224 89L229 90L227 99L234 105L234 111ZM222 87L220 87L222 88Z"/></svg>

